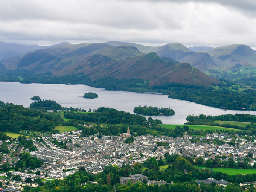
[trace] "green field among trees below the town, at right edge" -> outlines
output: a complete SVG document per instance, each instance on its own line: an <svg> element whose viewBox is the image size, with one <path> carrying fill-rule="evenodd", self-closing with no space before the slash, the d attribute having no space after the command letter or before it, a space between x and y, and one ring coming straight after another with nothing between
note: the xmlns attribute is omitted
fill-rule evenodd
<svg viewBox="0 0 256 192"><path fill-rule="evenodd" d="M236 169L236 168L224 168L224 167L215 167L207 168L204 166L194 166L198 169L212 169L215 172L227 173L229 175L238 175L238 174L256 174L256 169Z"/></svg>

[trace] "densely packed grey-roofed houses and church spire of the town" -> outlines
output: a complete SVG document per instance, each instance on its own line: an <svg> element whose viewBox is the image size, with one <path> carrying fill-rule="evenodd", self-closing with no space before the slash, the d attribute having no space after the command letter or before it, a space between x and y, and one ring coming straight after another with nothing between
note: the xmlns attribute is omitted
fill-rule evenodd
<svg viewBox="0 0 256 192"><path fill-rule="evenodd" d="M47 173L48 178L53 179L63 179L69 174L73 174L75 171L78 171L80 167L84 167L85 170L89 173L97 174L102 172L105 166L112 164L117 166L122 166L125 164L141 163L147 160L149 157L163 157L166 153L169 154L182 154L184 156L194 156L194 157L203 157L204 161L213 156L217 155L229 155L230 158L233 158L236 161L237 157L245 157L249 153L253 154L253 158L256 157L256 145L255 142L247 142L244 138L236 135L235 146L227 144L232 141L227 134L207 134L204 137L200 137L199 140L209 140L210 142L191 142L195 136L184 135L183 137L168 137L168 136L159 136L155 137L152 135L147 136L138 136L134 137L133 143L126 143L126 138L130 137L129 130L127 133L120 134L120 136L107 136L102 135L98 138L98 134L95 134L90 137L84 137L79 139L81 130L74 130L72 133L70 131L58 134L52 134L49 136L44 136L43 142L37 142L36 138L32 139L34 145L37 147L37 151L30 152L32 157L37 157L43 161L43 166L35 170L27 169L29 172L19 172L19 171L10 171L13 175L20 175L22 181L25 181L26 178L32 178L32 181L35 178L44 178ZM214 144L212 141L218 138L225 141L223 145ZM55 145L55 140L58 142L66 143L66 149L63 147L60 148ZM156 145L157 142L169 143L169 145ZM0 141L0 145L2 145ZM157 148L155 148L157 146ZM18 155L21 152L28 152L28 149L24 149L23 146L18 146L18 144L12 142L8 144L10 150L15 151ZM10 154L1 155L1 163L6 162L17 162L20 157L10 157ZM230 154L236 154L232 156ZM255 160L250 159L250 165L254 165ZM241 158L240 161L242 161ZM226 159L220 159L225 161ZM67 171L70 170L70 171ZM40 175L35 175L31 173L40 171ZM0 175L1 177L1 175ZM131 175L134 182L136 179L145 178L143 175ZM122 182L127 182L127 178L122 178ZM147 179L147 178L146 178ZM208 179L209 182L212 181L212 178ZM198 182L208 182L207 181L198 181ZM7 183L6 187L8 189L22 190L24 185L29 185L26 182L17 182L10 181L7 179L0 179L0 182L3 184ZM166 183L165 181L150 181L155 182L155 184ZM208 183L209 183L208 182ZM215 181L219 184L225 185L225 181ZM227 184L227 183L226 183ZM37 183L33 183L32 187L37 186Z"/></svg>

